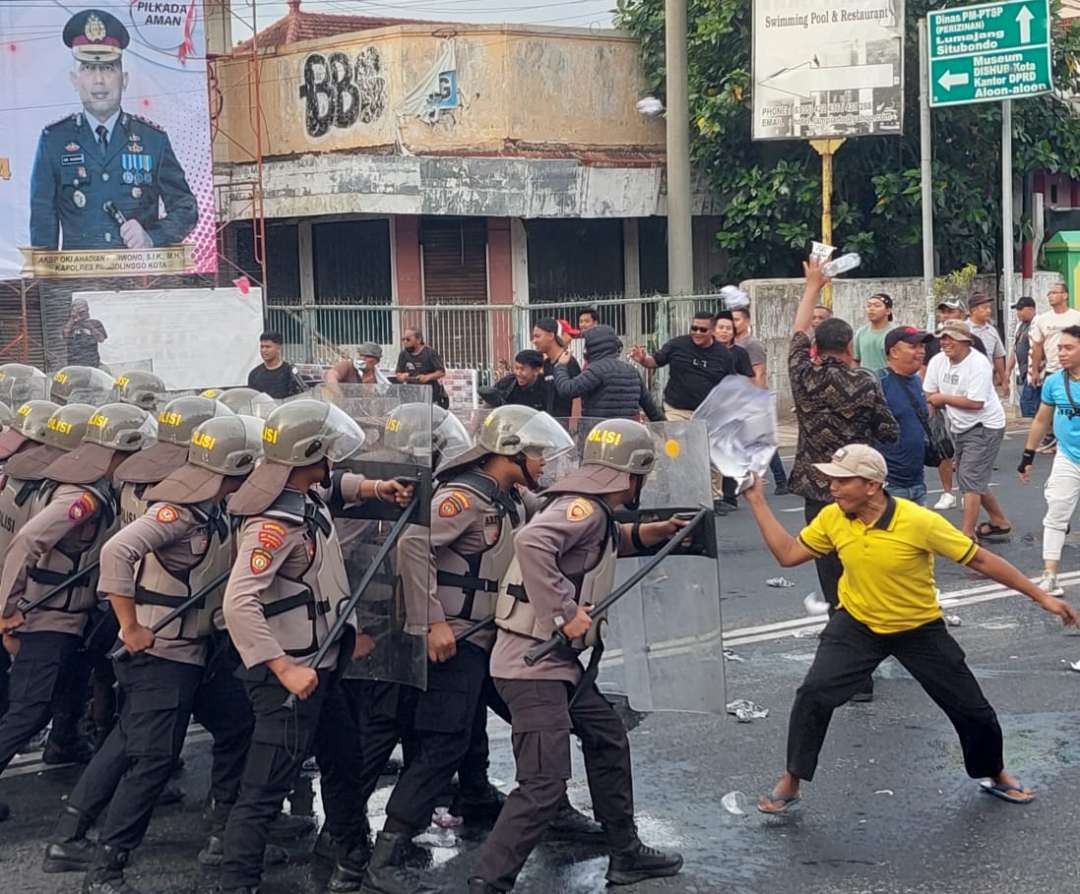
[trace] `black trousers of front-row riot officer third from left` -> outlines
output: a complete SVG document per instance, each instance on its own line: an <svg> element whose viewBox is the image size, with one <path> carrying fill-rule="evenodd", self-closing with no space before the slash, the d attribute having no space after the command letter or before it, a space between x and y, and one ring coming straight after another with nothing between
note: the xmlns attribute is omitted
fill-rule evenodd
<svg viewBox="0 0 1080 894"><path fill-rule="evenodd" d="M311 749L327 696L337 686L336 674L319 672L311 697L285 707L287 690L265 666L244 672L255 729L240 782L240 796L225 827L221 888L258 885L267 832L296 784ZM359 805L357 805L359 809Z"/></svg>

